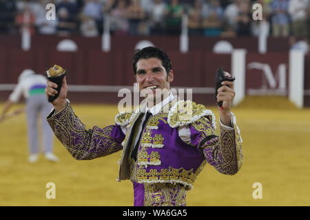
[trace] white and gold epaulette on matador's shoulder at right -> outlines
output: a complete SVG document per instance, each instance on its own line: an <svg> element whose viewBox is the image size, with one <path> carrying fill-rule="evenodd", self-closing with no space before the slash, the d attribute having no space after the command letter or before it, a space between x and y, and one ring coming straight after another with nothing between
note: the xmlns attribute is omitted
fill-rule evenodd
<svg viewBox="0 0 310 220"><path fill-rule="evenodd" d="M196 104L196 102L192 102L191 100L179 100L169 110L167 120L172 128L176 128L178 126L192 124L207 115L211 116L211 118L208 118L214 129L216 129L215 116L211 110L205 109L203 104Z"/></svg>

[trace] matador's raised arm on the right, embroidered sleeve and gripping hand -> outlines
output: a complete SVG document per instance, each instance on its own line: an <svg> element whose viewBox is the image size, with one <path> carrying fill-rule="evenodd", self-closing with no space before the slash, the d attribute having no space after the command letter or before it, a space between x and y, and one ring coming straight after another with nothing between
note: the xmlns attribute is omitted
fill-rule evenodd
<svg viewBox="0 0 310 220"><path fill-rule="evenodd" d="M225 75L231 78L229 73L225 72ZM202 132L200 135L204 138L199 142L198 147L203 151L209 164L214 166L220 173L234 175L242 165L242 139L236 124L236 118L230 110L236 93L233 82L224 81L222 85L218 89L218 95L216 96L217 102L223 101L222 107L218 107L220 137L200 131ZM202 120L201 123L205 128L210 127L206 119Z"/></svg>

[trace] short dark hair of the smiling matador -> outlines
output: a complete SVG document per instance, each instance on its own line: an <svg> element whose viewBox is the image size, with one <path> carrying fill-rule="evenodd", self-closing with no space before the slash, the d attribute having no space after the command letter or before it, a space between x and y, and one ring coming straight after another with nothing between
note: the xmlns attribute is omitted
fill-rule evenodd
<svg viewBox="0 0 310 220"><path fill-rule="evenodd" d="M136 75L136 63L141 59L158 58L161 60L163 67L165 67L167 74L172 69L171 61L169 56L162 50L156 47L145 47L142 50L136 50L134 57L132 58L132 66L134 67L134 74Z"/></svg>

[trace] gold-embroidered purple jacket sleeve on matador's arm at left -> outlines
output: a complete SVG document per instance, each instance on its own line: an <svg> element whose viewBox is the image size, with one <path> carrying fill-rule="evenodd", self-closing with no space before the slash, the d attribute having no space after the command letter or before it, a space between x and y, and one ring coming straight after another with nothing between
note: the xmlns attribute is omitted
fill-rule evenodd
<svg viewBox="0 0 310 220"><path fill-rule="evenodd" d="M58 140L67 148L75 159L95 159L121 151L125 135L119 125L101 129L94 126L85 129L68 103L65 109L48 115L48 123Z"/></svg>

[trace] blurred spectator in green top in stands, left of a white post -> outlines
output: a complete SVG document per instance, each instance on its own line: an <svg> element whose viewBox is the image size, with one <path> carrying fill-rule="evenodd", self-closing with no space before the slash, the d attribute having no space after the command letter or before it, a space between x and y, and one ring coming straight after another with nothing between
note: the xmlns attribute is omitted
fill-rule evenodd
<svg viewBox="0 0 310 220"><path fill-rule="evenodd" d="M178 0L172 0L167 5L165 15L166 33L172 35L180 34L183 7L178 3Z"/></svg>

